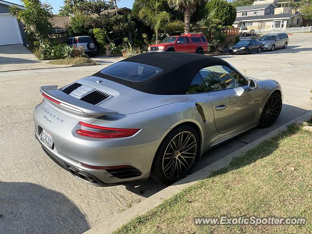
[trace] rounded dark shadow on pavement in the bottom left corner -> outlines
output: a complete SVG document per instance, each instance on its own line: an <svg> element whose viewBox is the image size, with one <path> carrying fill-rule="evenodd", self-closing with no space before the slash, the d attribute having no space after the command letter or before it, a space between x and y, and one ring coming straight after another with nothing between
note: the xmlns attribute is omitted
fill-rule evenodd
<svg viewBox="0 0 312 234"><path fill-rule="evenodd" d="M0 182L0 233L80 234L90 229L67 197L40 185Z"/></svg>

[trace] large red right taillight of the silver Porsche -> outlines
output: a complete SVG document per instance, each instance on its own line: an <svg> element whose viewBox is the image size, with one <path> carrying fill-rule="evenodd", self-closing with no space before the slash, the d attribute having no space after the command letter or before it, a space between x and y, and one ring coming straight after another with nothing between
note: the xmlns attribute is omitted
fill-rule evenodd
<svg viewBox="0 0 312 234"><path fill-rule="evenodd" d="M76 133L81 136L95 138L131 137L140 130L128 128L107 128L84 122L79 122L78 124L80 125L80 129L76 130Z"/></svg>

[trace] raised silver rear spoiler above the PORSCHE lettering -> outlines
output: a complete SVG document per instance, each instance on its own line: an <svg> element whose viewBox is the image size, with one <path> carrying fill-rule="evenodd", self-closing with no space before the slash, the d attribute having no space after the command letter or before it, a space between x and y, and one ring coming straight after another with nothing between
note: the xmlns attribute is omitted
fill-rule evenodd
<svg viewBox="0 0 312 234"><path fill-rule="evenodd" d="M58 89L57 85L47 85L40 88L42 95L60 107L74 111L76 115L83 117L101 117L117 115L118 112L95 106L78 98L74 98Z"/></svg>

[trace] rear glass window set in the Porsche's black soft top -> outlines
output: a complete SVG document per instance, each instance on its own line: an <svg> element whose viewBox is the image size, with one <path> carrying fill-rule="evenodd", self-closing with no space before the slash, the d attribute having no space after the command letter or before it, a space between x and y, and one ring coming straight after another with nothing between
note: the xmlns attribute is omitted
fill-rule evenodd
<svg viewBox="0 0 312 234"><path fill-rule="evenodd" d="M133 82L147 80L161 73L162 69L142 63L120 61L101 70L102 74Z"/></svg>

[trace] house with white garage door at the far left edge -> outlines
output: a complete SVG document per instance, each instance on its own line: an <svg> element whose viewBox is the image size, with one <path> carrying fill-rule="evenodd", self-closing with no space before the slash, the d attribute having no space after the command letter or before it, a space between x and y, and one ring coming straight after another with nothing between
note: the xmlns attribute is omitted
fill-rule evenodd
<svg viewBox="0 0 312 234"><path fill-rule="evenodd" d="M27 36L24 33L24 25L10 14L9 6L23 6L0 0L0 46L11 44L25 44Z"/></svg>

